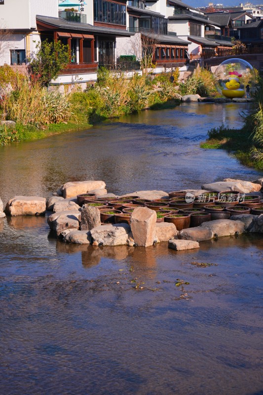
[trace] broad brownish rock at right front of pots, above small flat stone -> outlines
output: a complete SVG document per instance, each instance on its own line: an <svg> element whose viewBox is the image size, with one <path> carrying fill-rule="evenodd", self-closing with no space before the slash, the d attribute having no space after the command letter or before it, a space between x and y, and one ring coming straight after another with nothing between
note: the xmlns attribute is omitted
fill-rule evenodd
<svg viewBox="0 0 263 395"><path fill-rule="evenodd" d="M218 237L232 236L236 232L244 233L245 225L241 221L231 221L230 219L217 219L215 221L203 222L201 228L209 229L212 231L213 236Z"/></svg>

